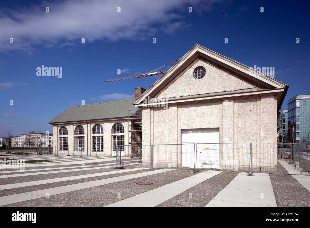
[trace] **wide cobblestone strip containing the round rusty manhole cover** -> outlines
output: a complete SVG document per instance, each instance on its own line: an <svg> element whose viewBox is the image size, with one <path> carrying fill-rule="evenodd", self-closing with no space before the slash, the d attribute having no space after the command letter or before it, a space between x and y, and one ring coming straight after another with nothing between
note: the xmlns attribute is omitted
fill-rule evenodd
<svg viewBox="0 0 310 228"><path fill-rule="evenodd" d="M195 175L190 170L171 170L146 177L119 181L88 189L77 190L64 194L50 196L49 199L34 199L5 206L105 206L122 199L141 194L148 190L170 184L174 181ZM124 175L124 174L123 174ZM152 185L137 185L137 182L151 182ZM118 193L120 199L117 199Z"/></svg>

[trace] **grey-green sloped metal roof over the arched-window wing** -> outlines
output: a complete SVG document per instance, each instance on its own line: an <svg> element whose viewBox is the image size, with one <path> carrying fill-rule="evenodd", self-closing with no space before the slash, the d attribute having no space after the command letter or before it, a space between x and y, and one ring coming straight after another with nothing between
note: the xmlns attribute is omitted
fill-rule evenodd
<svg viewBox="0 0 310 228"><path fill-rule="evenodd" d="M134 101L135 98L130 98L87 105L74 105L48 123L128 117L128 115L135 114L139 109L132 104Z"/></svg>

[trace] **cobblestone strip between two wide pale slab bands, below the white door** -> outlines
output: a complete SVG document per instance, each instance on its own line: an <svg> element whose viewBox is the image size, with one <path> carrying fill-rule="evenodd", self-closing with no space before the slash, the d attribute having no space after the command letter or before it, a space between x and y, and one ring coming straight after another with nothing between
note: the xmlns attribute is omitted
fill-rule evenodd
<svg viewBox="0 0 310 228"><path fill-rule="evenodd" d="M204 207L238 174L239 172L221 172L157 205L157 207Z"/></svg>

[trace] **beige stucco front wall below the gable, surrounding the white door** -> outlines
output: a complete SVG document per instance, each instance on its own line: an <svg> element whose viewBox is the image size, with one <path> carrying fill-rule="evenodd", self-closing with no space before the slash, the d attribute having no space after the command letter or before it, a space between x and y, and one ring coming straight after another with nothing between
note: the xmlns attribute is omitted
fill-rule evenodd
<svg viewBox="0 0 310 228"><path fill-rule="evenodd" d="M249 144L252 143L253 167L274 167L277 164L276 146L269 144L261 148L257 144L276 143L276 108L274 95L169 105L167 110L162 107L143 108L142 144L179 144L182 143L182 129L216 127L219 128L219 142L231 144L220 147L220 160L231 163L237 160L239 166L247 167ZM167 155L170 153L167 148L169 146L160 152L157 150L165 161L171 157L171 154ZM171 163L176 160L173 163L181 166L181 152L173 151L173 154L176 157L170 159ZM149 157L149 154L145 157L143 154L143 162L149 163Z"/></svg>

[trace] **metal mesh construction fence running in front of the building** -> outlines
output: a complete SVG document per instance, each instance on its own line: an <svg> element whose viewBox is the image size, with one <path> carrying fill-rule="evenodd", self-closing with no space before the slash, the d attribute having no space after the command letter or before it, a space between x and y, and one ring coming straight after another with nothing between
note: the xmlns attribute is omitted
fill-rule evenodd
<svg viewBox="0 0 310 228"><path fill-rule="evenodd" d="M309 175L310 144L187 143L53 146L53 154L113 156L116 167Z"/></svg>

